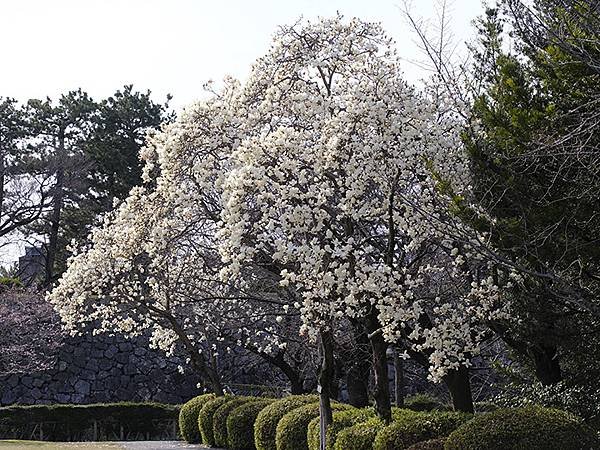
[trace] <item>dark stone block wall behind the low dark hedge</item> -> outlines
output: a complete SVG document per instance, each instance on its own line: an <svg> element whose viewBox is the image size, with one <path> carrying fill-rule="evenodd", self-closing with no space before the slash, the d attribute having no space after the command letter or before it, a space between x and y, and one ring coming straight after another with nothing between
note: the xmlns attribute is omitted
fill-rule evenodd
<svg viewBox="0 0 600 450"><path fill-rule="evenodd" d="M107 335L65 339L53 369L0 377L0 405L156 401L183 403L198 379L181 374L178 358L135 340Z"/></svg>

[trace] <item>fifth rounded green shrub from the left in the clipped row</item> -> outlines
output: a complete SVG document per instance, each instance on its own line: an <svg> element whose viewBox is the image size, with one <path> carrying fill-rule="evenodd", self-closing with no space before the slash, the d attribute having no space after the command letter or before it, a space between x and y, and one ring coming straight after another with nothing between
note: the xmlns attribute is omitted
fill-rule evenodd
<svg viewBox="0 0 600 450"><path fill-rule="evenodd" d="M257 450L277 450L275 433L277 424L288 412L319 401L316 395L291 395L276 400L263 409L254 422L254 444Z"/></svg>

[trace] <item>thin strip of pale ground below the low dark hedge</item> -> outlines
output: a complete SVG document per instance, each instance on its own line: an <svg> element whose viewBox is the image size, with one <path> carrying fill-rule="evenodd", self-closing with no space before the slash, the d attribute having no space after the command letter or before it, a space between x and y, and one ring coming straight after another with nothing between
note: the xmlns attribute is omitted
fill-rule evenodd
<svg viewBox="0 0 600 450"><path fill-rule="evenodd" d="M130 441L130 442L37 442L37 441L0 441L0 449L11 450L176 450L209 449L202 445L190 445L179 441Z"/></svg>

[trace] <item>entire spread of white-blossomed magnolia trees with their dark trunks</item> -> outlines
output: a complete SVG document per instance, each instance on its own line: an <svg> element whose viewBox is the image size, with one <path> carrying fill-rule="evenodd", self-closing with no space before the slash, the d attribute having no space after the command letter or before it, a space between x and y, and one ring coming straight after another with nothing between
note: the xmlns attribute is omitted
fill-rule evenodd
<svg viewBox="0 0 600 450"><path fill-rule="evenodd" d="M269 360L297 325L321 343L327 422L335 333L351 319L381 417L398 342L472 410L466 368L504 313L504 275L450 209L468 177L444 99L403 81L379 25L341 17L282 28L245 85L214 94L150 140L146 187L72 259L50 295L67 327L152 329L219 393L219 343Z"/></svg>

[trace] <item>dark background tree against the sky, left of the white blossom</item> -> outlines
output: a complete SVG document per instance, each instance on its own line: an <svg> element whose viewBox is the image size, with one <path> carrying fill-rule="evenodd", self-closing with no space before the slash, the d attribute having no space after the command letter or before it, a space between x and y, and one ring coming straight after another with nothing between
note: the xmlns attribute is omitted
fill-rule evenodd
<svg viewBox="0 0 600 450"><path fill-rule="evenodd" d="M67 245L73 239L84 242L99 225L99 216L112 210L113 201L123 200L141 184L139 151L150 130L172 119L167 103L155 103L149 91L140 93L131 85L100 102L79 89L57 101L29 100L20 115L23 124L10 126L13 135L27 130L18 158L12 158L19 161L19 170L48 180L44 192L37 193L44 197L43 211L34 214L32 208L32 218L23 223L26 235L48 236L46 282L65 269ZM2 228L0 223L0 235Z"/></svg>

